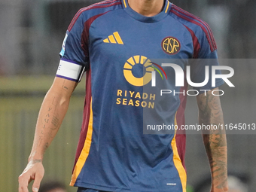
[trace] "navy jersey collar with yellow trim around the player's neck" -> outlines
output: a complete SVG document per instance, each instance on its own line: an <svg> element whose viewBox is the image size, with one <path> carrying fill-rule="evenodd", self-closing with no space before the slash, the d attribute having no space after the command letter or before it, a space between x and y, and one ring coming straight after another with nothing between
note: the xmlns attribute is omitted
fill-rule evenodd
<svg viewBox="0 0 256 192"><path fill-rule="evenodd" d="M123 4L123 10L126 11L127 14L130 14L130 16L133 17L134 19L142 21L144 23L154 23L154 22L163 20L163 18L169 14L169 11L172 7L172 3L170 3L168 0L165 0L163 11L161 11L159 14L155 15L154 17L146 17L142 14L137 13L136 11L133 11L133 9L130 8L127 0L121 0L121 1Z"/></svg>

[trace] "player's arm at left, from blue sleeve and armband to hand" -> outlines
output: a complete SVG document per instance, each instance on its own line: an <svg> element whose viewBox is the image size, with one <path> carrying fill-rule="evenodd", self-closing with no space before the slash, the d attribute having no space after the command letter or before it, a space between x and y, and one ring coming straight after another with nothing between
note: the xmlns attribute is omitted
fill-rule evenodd
<svg viewBox="0 0 256 192"><path fill-rule="evenodd" d="M84 71L89 69L88 34L89 28L84 26L87 15L84 9L75 15L66 32L62 44L59 68L52 87L44 98L38 115L35 138L29 155L29 163L19 177L19 192L29 192L28 184L35 180L32 191L38 191L44 175L42 160L44 151L53 141L69 106L72 92L81 80ZM90 22L89 22L90 23Z"/></svg>

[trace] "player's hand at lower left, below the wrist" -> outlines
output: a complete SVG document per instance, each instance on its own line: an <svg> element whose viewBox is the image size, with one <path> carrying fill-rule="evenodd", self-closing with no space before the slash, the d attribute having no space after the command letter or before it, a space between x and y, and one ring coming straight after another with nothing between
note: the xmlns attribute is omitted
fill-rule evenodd
<svg viewBox="0 0 256 192"><path fill-rule="evenodd" d="M44 177L44 166L41 160L31 160L19 176L19 192L29 192L30 181L35 180L32 186L33 192L38 192L42 178Z"/></svg>

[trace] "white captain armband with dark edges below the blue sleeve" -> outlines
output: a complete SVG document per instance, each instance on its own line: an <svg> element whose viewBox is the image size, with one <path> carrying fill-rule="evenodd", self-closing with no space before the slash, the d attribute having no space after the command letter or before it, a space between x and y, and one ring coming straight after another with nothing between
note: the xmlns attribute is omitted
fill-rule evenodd
<svg viewBox="0 0 256 192"><path fill-rule="evenodd" d="M78 63L69 61L68 59L61 59L59 61L59 67L56 72L56 77L65 78L71 81L80 82L84 75L85 67Z"/></svg>

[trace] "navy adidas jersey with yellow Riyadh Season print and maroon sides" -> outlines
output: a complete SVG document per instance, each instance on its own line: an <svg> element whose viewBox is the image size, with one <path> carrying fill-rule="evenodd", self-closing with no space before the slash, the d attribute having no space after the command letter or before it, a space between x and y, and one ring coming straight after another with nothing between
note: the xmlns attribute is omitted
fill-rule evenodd
<svg viewBox="0 0 256 192"><path fill-rule="evenodd" d="M187 59L216 59L209 26L167 0L154 17L136 13L126 0L99 2L75 15L60 55L87 70L71 185L103 191L186 191L185 135L143 134L145 115L151 124L181 125L186 105L182 94L162 99L150 92L156 69L150 59L179 59L182 69ZM163 70L168 79L158 75L157 82L176 92L187 89L175 87L173 70ZM194 70L193 81L202 82L202 73ZM222 83L217 81L216 87ZM203 87L212 88L210 81Z"/></svg>

